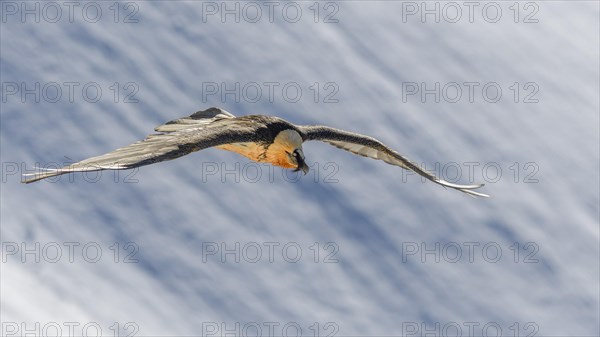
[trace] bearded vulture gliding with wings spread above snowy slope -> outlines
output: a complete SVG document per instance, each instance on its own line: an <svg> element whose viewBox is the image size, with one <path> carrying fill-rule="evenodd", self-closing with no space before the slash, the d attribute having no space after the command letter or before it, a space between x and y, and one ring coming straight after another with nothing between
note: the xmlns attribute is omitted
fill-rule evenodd
<svg viewBox="0 0 600 337"><path fill-rule="evenodd" d="M319 140L342 150L412 170L444 187L473 196L488 197L476 192L483 186L459 185L445 181L421 169L398 152L375 138L334 129L328 126L294 125L278 117L249 115L236 117L220 108L198 111L189 117L172 120L154 129L144 140L92 157L60 169L25 174L23 183L71 172L127 170L189 153L216 147L232 151L257 162L270 163L308 173L302 143Z"/></svg>

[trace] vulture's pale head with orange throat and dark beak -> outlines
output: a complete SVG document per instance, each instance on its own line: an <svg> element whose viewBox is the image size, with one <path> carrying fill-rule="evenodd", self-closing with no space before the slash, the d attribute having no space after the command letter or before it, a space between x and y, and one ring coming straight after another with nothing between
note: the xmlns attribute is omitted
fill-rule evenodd
<svg viewBox="0 0 600 337"><path fill-rule="evenodd" d="M304 161L302 137L294 130L281 131L269 146L267 157L274 165L301 170L304 174L310 169Z"/></svg>

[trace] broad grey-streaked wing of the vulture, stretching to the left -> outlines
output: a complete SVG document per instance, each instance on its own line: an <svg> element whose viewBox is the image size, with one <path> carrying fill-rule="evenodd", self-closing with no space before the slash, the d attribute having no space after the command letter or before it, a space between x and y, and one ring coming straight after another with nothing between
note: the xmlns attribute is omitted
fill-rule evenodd
<svg viewBox="0 0 600 337"><path fill-rule="evenodd" d="M129 146L61 169L27 174L25 176L28 178L22 182L32 183L70 172L125 170L150 165L213 146L251 141L256 128L255 123L237 119L227 111L211 108L155 129L163 133L149 135Z"/></svg>

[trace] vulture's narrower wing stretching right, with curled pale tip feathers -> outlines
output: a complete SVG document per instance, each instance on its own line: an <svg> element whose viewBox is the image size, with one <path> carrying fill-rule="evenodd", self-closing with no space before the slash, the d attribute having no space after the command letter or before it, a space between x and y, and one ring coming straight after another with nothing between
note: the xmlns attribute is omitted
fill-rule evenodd
<svg viewBox="0 0 600 337"><path fill-rule="evenodd" d="M388 164L400 166L407 170L414 171L417 174L433 181L436 184L440 184L445 187L450 187L470 195L488 197L487 194L473 191L474 189L482 187L483 184L459 185L440 179L431 172L421 169L417 164L406 159L398 152L385 146L383 143L381 143L375 138L344 130L334 129L327 126L299 126L298 128L303 133L304 141L320 140L340 149L352 152L354 154L373 159L383 160Z"/></svg>

